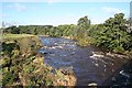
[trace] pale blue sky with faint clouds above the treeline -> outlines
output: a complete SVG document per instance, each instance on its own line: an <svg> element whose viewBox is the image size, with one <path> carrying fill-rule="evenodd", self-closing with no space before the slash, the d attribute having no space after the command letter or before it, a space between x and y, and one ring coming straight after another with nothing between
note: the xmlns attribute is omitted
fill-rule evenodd
<svg viewBox="0 0 132 88"><path fill-rule="evenodd" d="M0 2L0 21L7 25L77 24L85 15L92 24L103 23L116 13L130 15L130 2ZM1 26L1 25L0 25Z"/></svg>

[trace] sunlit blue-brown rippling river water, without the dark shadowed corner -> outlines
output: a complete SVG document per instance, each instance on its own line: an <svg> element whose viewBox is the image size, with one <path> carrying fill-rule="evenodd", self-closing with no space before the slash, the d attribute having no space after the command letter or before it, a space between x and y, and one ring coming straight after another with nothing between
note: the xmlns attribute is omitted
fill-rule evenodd
<svg viewBox="0 0 132 88"><path fill-rule="evenodd" d="M128 62L122 56L113 56L103 50L89 45L80 47L75 41L63 37L40 36L44 45L40 52L44 53L45 64L53 68L70 68L77 78L77 86L108 86L116 81L117 73L122 73L122 66Z"/></svg>

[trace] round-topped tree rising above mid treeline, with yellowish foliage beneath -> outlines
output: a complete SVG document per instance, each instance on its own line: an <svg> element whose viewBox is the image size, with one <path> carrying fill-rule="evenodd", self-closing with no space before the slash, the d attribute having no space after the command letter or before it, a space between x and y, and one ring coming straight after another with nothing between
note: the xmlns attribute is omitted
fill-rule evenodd
<svg viewBox="0 0 132 88"><path fill-rule="evenodd" d="M87 46L88 45L88 29L90 26L90 20L87 16L80 18L75 28L74 37L78 41L78 45Z"/></svg>

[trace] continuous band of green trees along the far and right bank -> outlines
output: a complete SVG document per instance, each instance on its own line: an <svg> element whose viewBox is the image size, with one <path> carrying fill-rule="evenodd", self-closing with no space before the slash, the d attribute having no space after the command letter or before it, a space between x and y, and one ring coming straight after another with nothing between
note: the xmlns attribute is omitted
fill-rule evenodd
<svg viewBox="0 0 132 88"><path fill-rule="evenodd" d="M95 44L114 53L130 54L132 53L132 30L128 24L129 20L124 19L124 14L118 13L106 20L103 24L90 24L90 20L84 16L78 20L77 25L20 25L7 28L4 33L68 36L78 41L77 44L80 46Z"/></svg>

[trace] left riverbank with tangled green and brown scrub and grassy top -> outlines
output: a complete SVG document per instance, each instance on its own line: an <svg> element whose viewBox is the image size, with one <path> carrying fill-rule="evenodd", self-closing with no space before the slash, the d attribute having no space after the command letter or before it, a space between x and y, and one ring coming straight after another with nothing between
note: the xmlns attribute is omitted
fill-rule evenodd
<svg viewBox="0 0 132 88"><path fill-rule="evenodd" d="M74 85L73 75L64 75L44 64L42 54L37 54L41 42L35 35L7 34L2 42L2 86L64 86ZM53 74L53 70L56 74ZM69 82L69 78L73 82ZM59 82L58 82L59 80Z"/></svg>

